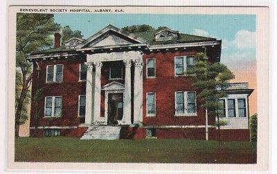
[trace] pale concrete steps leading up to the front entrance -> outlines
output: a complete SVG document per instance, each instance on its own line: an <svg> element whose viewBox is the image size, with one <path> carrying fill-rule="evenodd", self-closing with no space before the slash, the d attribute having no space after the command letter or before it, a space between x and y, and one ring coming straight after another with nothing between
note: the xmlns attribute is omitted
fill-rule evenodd
<svg viewBox="0 0 277 174"><path fill-rule="evenodd" d="M81 139L119 139L120 126L89 126Z"/></svg>

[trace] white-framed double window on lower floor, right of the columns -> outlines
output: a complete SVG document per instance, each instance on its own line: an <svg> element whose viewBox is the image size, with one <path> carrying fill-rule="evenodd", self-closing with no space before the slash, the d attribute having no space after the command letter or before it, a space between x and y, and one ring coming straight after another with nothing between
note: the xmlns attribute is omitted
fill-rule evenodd
<svg viewBox="0 0 277 174"><path fill-rule="evenodd" d="M195 113L188 113L188 92L189 93L195 93ZM184 95L184 113L177 113L177 93L183 93ZM197 116L197 97L196 97L196 91L175 91L175 116Z"/></svg>

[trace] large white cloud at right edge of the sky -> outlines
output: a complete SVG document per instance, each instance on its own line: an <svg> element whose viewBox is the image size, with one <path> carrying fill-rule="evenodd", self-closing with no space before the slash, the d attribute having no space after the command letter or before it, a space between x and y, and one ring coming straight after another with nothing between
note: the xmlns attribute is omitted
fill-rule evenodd
<svg viewBox="0 0 277 174"><path fill-rule="evenodd" d="M235 34L235 46L239 49L256 47L256 32L239 30Z"/></svg>

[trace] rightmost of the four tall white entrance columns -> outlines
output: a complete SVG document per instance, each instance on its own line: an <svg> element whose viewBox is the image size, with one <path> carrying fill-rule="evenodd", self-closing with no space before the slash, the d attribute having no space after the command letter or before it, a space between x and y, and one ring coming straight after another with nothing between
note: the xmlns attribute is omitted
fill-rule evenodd
<svg viewBox="0 0 277 174"><path fill-rule="evenodd" d="M134 124L143 122L143 60L134 60Z"/></svg>

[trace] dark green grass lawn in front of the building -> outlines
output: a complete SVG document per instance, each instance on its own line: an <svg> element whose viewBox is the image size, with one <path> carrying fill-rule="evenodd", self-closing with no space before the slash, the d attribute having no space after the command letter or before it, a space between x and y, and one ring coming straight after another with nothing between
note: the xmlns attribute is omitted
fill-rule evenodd
<svg viewBox="0 0 277 174"><path fill-rule="evenodd" d="M80 140L19 137L16 162L256 163L256 144L189 139Z"/></svg>

